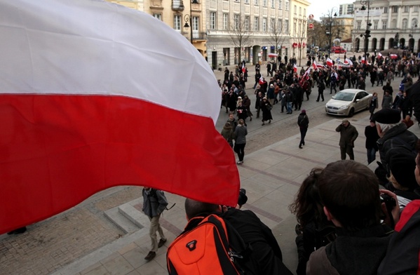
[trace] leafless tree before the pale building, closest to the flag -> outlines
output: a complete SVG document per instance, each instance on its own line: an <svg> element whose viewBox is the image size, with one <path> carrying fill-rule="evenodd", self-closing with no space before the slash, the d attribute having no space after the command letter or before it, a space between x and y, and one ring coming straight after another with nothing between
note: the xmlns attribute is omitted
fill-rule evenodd
<svg viewBox="0 0 420 275"><path fill-rule="evenodd" d="M238 50L238 61L242 60L242 51L243 48L250 46L250 22L249 17L242 15L241 17L235 16L233 18L233 23L229 27L229 36L231 36L233 45Z"/></svg>

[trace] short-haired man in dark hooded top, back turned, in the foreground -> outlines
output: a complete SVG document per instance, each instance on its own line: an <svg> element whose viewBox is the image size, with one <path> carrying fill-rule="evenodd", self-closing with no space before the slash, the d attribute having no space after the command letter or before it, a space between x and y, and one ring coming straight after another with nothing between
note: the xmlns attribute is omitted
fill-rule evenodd
<svg viewBox="0 0 420 275"><path fill-rule="evenodd" d="M337 239L311 253L306 274L377 274L392 232L381 224L378 190L376 175L361 163L335 161L324 168L318 192L327 220L337 227Z"/></svg>

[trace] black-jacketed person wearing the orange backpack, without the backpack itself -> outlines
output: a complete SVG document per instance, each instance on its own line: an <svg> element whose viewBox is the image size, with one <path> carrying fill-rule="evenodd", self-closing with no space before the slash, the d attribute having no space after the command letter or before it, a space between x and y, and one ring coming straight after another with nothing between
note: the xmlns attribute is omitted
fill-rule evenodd
<svg viewBox="0 0 420 275"><path fill-rule="evenodd" d="M226 206L192 199L186 199L184 207L189 221L193 217L219 213L226 222L229 222L241 235L244 243L252 247L248 264L255 267L259 271L258 274L292 274L283 264L283 255L271 229L251 210L227 209Z"/></svg>

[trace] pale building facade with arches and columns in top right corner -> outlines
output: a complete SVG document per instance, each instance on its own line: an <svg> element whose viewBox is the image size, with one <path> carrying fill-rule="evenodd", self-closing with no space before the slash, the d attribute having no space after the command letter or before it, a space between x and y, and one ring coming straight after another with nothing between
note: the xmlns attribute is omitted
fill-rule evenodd
<svg viewBox="0 0 420 275"><path fill-rule="evenodd" d="M390 48L414 53L420 51L419 1L370 0L357 1L354 4L355 51L372 52ZM362 9L363 6L365 10ZM370 36L365 35L367 29L370 30Z"/></svg>

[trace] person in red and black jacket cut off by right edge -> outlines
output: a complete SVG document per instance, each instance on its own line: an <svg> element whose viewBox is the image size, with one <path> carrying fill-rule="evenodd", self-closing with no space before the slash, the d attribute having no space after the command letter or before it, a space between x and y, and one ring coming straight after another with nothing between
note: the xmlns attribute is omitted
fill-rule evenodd
<svg viewBox="0 0 420 275"><path fill-rule="evenodd" d="M414 177L420 185L420 142L416 142L416 166ZM418 192L417 192L418 194ZM397 208L397 207L395 207ZM415 199L405 206L401 215L397 208L393 218L396 222L394 232L389 241L386 255L379 265L377 274L420 274L420 199Z"/></svg>

